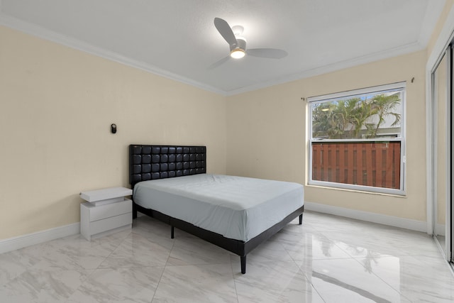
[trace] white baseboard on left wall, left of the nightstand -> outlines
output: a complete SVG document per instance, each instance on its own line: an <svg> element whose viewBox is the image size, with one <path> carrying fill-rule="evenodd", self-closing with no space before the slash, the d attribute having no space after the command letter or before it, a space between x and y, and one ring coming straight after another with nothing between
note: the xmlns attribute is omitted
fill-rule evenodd
<svg viewBox="0 0 454 303"><path fill-rule="evenodd" d="M72 236L80 233L80 223L74 223L66 226L50 228L45 231L28 233L23 236L7 238L0 240L0 253L6 253L11 250L32 246L39 243L55 240L66 236Z"/></svg>

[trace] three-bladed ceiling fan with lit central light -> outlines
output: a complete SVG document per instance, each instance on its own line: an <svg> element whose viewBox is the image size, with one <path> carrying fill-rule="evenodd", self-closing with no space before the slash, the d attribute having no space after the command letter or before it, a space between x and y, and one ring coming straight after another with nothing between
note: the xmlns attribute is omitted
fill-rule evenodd
<svg viewBox="0 0 454 303"><path fill-rule="evenodd" d="M279 50L277 48L250 48L246 49L246 40L241 37L243 33L243 26L233 26L231 28L227 21L221 18L214 18L214 26L216 26L218 32L222 37L227 41L230 47L230 55L223 57L221 60L218 60L211 68L218 67L219 65L226 62L230 57L234 59L240 59L246 54L255 56L255 57L264 57L269 59L281 59L287 56L285 50Z"/></svg>

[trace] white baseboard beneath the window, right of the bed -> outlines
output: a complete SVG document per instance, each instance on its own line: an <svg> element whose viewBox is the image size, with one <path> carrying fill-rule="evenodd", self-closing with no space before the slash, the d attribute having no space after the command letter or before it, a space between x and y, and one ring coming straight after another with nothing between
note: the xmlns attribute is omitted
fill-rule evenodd
<svg viewBox="0 0 454 303"><path fill-rule="evenodd" d="M398 216L387 216L384 214L375 214L368 211L358 211L355 209L345 209L343 207L319 204L313 202L304 202L304 209L308 211L318 211L324 214L333 214L336 216L345 216L351 219L368 221L388 226L411 229L412 231L427 232L427 222L412 219L399 218Z"/></svg>

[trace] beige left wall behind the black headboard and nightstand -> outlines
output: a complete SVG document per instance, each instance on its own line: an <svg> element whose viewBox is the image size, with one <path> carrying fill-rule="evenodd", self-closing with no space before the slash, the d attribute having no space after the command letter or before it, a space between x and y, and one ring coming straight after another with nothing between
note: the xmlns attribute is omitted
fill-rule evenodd
<svg viewBox="0 0 454 303"><path fill-rule="evenodd" d="M0 41L0 239L76 223L79 192L128 186L131 143L207 145L226 172L225 97L1 26Z"/></svg>

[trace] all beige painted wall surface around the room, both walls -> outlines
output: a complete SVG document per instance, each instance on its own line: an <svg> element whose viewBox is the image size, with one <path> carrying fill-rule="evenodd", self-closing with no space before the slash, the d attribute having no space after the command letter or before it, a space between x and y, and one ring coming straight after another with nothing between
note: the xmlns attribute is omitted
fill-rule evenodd
<svg viewBox="0 0 454 303"><path fill-rule="evenodd" d="M76 223L80 191L128 186L130 143L204 144L209 172L306 184L307 97L401 81L406 197L306 186L305 198L426 221L424 67L453 3L427 52L232 97L0 26L0 239Z"/></svg>

